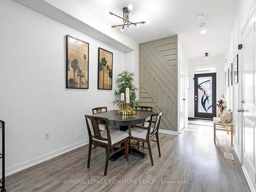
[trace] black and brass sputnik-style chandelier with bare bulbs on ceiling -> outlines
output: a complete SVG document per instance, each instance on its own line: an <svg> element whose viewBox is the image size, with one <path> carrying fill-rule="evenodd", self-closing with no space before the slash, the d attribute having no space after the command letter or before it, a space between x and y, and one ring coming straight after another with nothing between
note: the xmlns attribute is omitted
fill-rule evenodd
<svg viewBox="0 0 256 192"><path fill-rule="evenodd" d="M115 15L117 16L118 18L121 18L123 20L123 24L121 25L112 25L111 28L115 28L115 27L121 27L121 31L124 31L124 27L127 26L129 27L130 25L134 25L136 27L139 27L140 24L145 24L145 23L148 23L148 22L145 22L145 21L142 21L142 22L136 22L136 23L133 23L133 22L130 22L129 20L129 13L130 11L133 9L133 5L129 5L128 7L124 7L123 8L123 17L120 17L116 14L114 14L113 12L109 12L111 15Z"/></svg>

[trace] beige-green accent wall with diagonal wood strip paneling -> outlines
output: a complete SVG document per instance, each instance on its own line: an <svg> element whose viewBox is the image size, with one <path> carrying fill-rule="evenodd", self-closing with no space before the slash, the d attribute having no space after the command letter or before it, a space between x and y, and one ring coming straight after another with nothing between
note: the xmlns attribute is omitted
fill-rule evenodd
<svg viewBox="0 0 256 192"><path fill-rule="evenodd" d="M177 35L140 44L139 100L163 112L161 129L177 131Z"/></svg>

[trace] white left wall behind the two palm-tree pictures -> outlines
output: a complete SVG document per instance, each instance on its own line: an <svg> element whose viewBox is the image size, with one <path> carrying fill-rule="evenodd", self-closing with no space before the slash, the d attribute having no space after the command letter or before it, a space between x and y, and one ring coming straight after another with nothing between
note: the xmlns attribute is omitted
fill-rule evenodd
<svg viewBox="0 0 256 192"><path fill-rule="evenodd" d="M125 69L125 54L12 1L0 1L0 18L0 118L9 175L86 144L83 115L96 106L114 109L114 79ZM90 44L89 90L65 88L67 34ZM112 91L97 90L98 47L113 52Z"/></svg>

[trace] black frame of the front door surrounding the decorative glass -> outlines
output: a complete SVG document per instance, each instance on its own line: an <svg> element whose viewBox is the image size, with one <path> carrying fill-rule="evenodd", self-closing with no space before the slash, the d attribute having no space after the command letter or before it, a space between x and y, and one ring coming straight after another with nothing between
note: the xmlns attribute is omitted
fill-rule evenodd
<svg viewBox="0 0 256 192"><path fill-rule="evenodd" d="M216 102L214 102L214 101L217 101L216 100L216 98L217 98L217 73L216 72L215 73L200 73L200 74L194 74L194 98L193 98L193 100L194 100L194 116L195 116L195 118L211 119L211 117L209 117L210 115L208 115L207 113L204 113L204 115L206 115L206 117L196 117L196 114L199 114L198 110L197 110L197 113L196 113L196 109L198 109L198 105L197 105L197 108L196 108L196 102L195 102L196 92L198 93L198 89L195 86L196 82L198 82L198 81L196 81L196 76L204 77L204 76L207 76L207 75L212 76L212 86L213 86L212 87L213 88L212 92L215 92L215 95L212 95L212 100L213 100L213 102L212 102L212 114L213 114L213 117L217 115L217 109L216 109L216 106L215 106ZM197 97L197 99L198 99L198 97ZM208 117L207 117L207 115L208 115Z"/></svg>

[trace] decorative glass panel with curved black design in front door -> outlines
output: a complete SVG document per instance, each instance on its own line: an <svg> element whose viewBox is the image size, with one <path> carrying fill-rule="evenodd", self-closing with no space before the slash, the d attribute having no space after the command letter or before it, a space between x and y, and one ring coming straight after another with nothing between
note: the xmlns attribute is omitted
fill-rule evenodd
<svg viewBox="0 0 256 192"><path fill-rule="evenodd" d="M198 112L212 113L212 77L198 77Z"/></svg>

